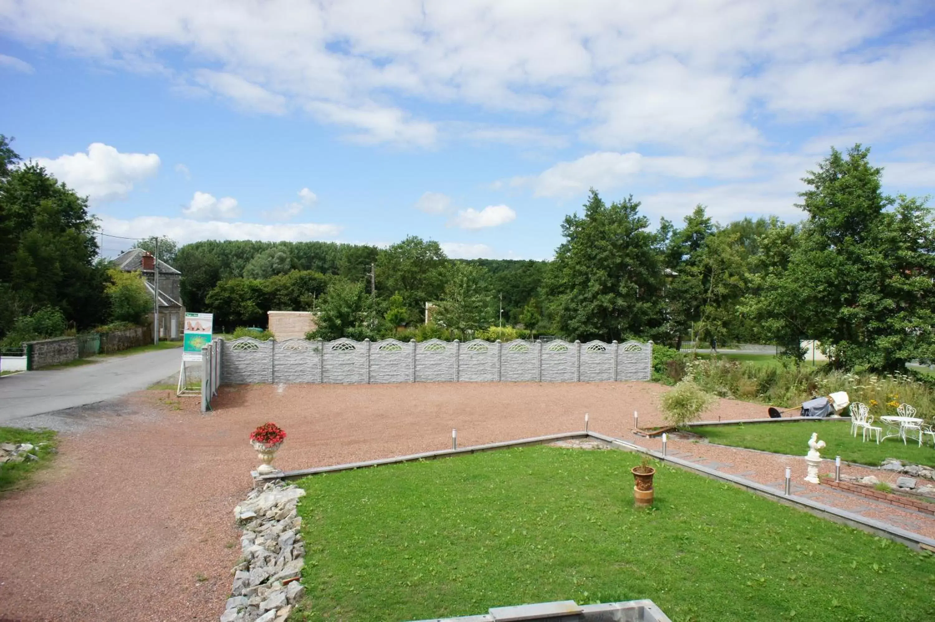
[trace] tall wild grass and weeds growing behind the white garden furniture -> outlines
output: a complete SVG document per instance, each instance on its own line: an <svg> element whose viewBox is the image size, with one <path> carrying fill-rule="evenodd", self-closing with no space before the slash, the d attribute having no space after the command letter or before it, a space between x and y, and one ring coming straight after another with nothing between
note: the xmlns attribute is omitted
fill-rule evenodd
<svg viewBox="0 0 935 622"><path fill-rule="evenodd" d="M847 373L797 367L777 359L752 363L725 359L685 362L686 375L702 389L721 398L760 401L793 408L811 398L846 391L852 402L863 402L879 418L896 414L900 403L913 405L917 416L935 421L935 390L930 382L910 373Z"/></svg>

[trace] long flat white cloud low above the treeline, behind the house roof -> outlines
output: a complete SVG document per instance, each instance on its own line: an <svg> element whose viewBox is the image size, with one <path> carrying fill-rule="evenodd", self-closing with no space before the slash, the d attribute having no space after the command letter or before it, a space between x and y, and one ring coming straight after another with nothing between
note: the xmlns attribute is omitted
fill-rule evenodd
<svg viewBox="0 0 935 622"><path fill-rule="evenodd" d="M224 223L221 221L195 221L165 216L140 216L122 220L100 215L100 224L111 235L145 238L153 231L176 240L180 244L199 239L259 239L263 241L309 241L332 239L341 232L337 224L257 224Z"/></svg>

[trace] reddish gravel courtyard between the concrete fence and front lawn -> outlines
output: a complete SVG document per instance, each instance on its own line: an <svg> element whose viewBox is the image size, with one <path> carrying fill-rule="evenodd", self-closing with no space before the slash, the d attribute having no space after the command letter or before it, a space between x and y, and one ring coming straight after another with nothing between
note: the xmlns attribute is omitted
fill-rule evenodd
<svg viewBox="0 0 935 622"><path fill-rule="evenodd" d="M258 460L247 438L288 433L282 469L591 428L661 423L654 383L225 386L214 412L142 391L43 415L64 427L34 485L0 498L0 620L217 620L239 554L231 511ZM710 418L766 416L722 399ZM28 420L27 420L28 421ZM29 425L29 424L26 424Z"/></svg>

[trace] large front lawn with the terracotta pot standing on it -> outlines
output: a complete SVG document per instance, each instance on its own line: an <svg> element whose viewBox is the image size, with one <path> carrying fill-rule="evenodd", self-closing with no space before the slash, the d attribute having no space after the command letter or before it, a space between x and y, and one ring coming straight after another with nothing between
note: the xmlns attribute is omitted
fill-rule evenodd
<svg viewBox="0 0 935 622"><path fill-rule="evenodd" d="M932 620L935 557L621 451L530 447L302 480L299 620L652 599L684 620Z"/></svg>

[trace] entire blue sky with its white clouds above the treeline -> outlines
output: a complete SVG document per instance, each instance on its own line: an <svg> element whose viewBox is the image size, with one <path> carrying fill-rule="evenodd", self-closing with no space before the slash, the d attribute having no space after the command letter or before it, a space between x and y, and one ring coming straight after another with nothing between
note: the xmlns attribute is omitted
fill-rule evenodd
<svg viewBox="0 0 935 622"><path fill-rule="evenodd" d="M654 224L798 220L831 145L932 194L933 26L923 1L0 0L0 133L114 235L540 259L590 186Z"/></svg>

